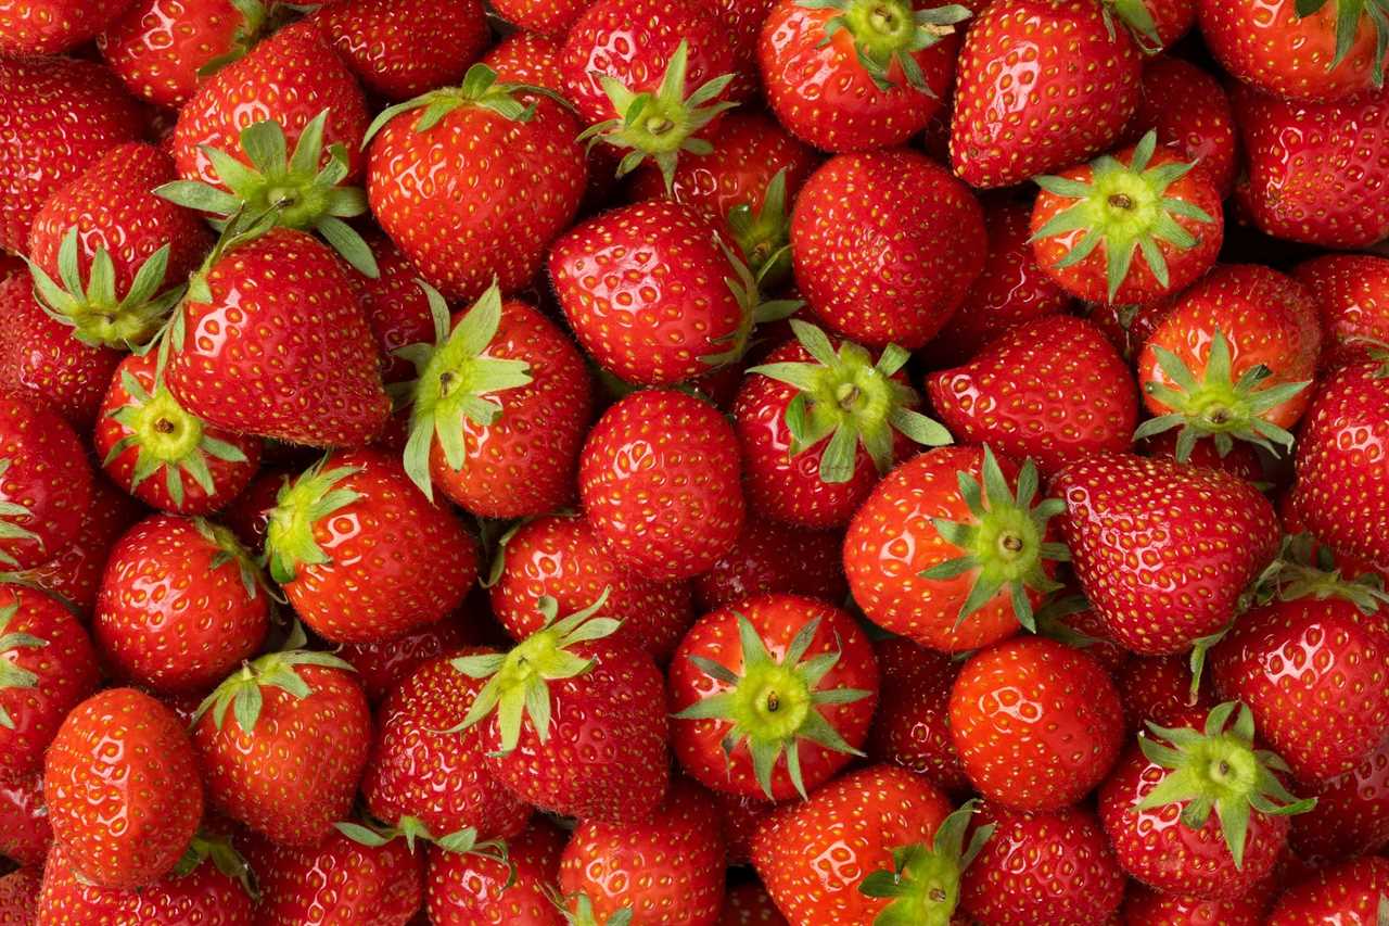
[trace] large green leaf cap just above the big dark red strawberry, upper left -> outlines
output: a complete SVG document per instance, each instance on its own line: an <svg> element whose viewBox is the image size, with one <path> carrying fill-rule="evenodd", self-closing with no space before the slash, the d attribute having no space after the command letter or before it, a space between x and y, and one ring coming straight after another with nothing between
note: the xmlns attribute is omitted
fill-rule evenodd
<svg viewBox="0 0 1389 926"><path fill-rule="evenodd" d="M272 225L313 229L358 273L375 279L381 274L376 257L361 235L343 221L367 211L367 193L361 188L340 186L350 170L347 149L340 143L329 145L328 163L319 167L326 122L328 110L324 110L304 127L293 153L288 150L279 122L253 122L240 135L250 165L221 149L199 146L225 190L182 179L156 188L154 195L215 216L211 221L218 231L225 231L239 216L272 216Z"/></svg>

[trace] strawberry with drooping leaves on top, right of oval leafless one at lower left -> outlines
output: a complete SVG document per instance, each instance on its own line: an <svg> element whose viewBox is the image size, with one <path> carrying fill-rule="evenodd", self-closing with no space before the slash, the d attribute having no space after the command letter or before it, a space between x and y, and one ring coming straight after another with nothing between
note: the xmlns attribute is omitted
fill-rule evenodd
<svg viewBox="0 0 1389 926"><path fill-rule="evenodd" d="M242 666L192 724L213 805L288 848L319 845L347 816L371 747L351 666L304 642L296 624L283 652Z"/></svg>

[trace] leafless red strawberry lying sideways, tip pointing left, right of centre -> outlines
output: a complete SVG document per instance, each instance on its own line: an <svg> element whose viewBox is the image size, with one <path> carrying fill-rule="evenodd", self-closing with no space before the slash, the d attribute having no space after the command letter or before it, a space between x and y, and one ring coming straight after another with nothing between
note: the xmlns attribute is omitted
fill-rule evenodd
<svg viewBox="0 0 1389 926"><path fill-rule="evenodd" d="M1096 450L1126 450L1138 421L1124 357L1072 316L1018 324L967 364L929 374L926 392L960 441L1036 460L1043 476Z"/></svg>

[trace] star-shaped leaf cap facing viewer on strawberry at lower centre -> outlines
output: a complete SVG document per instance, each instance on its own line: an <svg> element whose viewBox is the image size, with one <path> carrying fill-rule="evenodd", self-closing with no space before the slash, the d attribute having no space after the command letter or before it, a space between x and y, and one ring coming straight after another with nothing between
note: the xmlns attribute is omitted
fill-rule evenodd
<svg viewBox="0 0 1389 926"><path fill-rule="evenodd" d="M825 652L806 659L806 651L820 630L820 617L807 622L792 638L786 653L778 660L767 651L751 622L733 612L738 619L738 640L743 659L739 676L722 663L690 656L690 662L706 676L729 688L696 701L679 713L681 720L724 720L724 755L729 759L739 744L747 745L753 759L753 774L768 799L772 798L772 770L786 758L786 773L796 791L806 798L806 784L800 772L800 741L808 740L825 749L858 755L863 752L845 742L843 737L825 720L820 708L853 704L870 695L860 688L820 688L821 680L839 663L842 652Z"/></svg>

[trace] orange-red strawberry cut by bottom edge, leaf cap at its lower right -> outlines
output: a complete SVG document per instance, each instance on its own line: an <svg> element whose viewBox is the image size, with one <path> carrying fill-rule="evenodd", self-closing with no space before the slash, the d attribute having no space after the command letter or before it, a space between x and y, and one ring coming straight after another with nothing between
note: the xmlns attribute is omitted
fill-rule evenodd
<svg viewBox="0 0 1389 926"><path fill-rule="evenodd" d="M965 845L972 812L951 813L935 786L875 765L767 818L753 865L793 923L949 923L961 872L990 833Z"/></svg>

